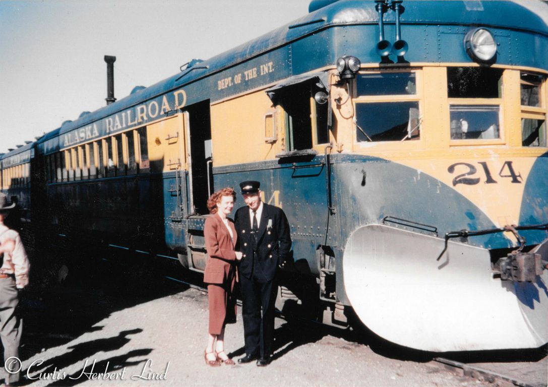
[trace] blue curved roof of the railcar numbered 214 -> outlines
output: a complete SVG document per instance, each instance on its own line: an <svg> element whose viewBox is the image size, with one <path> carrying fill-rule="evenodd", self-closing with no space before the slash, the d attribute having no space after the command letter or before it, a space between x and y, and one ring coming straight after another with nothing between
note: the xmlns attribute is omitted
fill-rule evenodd
<svg viewBox="0 0 548 387"><path fill-rule="evenodd" d="M327 2L329 3L329 1ZM510 1L481 0L404 0L404 11L401 14L401 24L406 25L475 25L496 26L529 31L548 36L548 6L539 1L538 10ZM395 13L385 14L385 24L395 23ZM241 44L236 48L216 55L207 61L195 63L181 73L162 80L148 88L107 105L95 112L85 114L72 122L64 123L59 135L71 132L101 118L123 111L142 101L180 89L199 79L212 76L238 63L246 62L254 57L276 50L291 42L319 31L336 26L376 25L378 13L373 0L336 1L326 7L296 19L282 27L266 33L259 38ZM403 29L404 27L402 27ZM403 35L403 33L402 33ZM405 36L403 36L405 38ZM372 42L372 45L374 42Z"/></svg>

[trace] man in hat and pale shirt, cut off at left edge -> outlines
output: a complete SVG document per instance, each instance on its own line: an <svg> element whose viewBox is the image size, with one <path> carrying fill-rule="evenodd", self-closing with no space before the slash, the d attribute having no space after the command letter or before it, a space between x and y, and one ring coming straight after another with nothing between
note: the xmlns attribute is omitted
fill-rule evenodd
<svg viewBox="0 0 548 387"><path fill-rule="evenodd" d="M8 206L6 196L0 193L0 258L3 258L0 268L0 338L4 346L4 366L13 367L6 369L5 385L19 382L19 363L7 360L19 358L22 322L15 309L19 303L18 289L28 284L30 267L19 233L4 225L4 219L14 207L15 203Z"/></svg>

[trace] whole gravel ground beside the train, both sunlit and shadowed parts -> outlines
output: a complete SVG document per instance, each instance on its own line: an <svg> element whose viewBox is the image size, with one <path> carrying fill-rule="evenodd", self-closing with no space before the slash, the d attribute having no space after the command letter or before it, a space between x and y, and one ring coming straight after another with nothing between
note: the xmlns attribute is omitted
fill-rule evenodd
<svg viewBox="0 0 548 387"><path fill-rule="evenodd" d="M67 270L56 268L53 271L62 274L61 284L38 281L36 273L44 278L45 274L35 265L35 286L21 303L25 330L20 357L22 374L28 376L23 385L494 385L431 361L431 355L402 352L358 331L280 318L275 355L268 367L254 363L207 367L203 360L207 294L165 278L200 285L201 274L185 273L169 259L162 266L149 260L128 265L127 258L101 255L90 261L91 266L72 267L66 278ZM241 320L238 316L225 333L227 352L236 359L244 355ZM503 356L500 361L521 357ZM516 369L532 365L534 371L524 374L526 381L546 385L545 354L536 351L529 357L536 358L516 363Z"/></svg>

